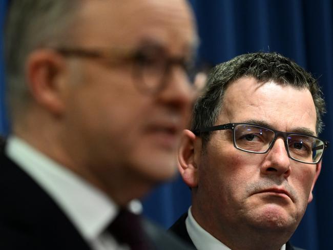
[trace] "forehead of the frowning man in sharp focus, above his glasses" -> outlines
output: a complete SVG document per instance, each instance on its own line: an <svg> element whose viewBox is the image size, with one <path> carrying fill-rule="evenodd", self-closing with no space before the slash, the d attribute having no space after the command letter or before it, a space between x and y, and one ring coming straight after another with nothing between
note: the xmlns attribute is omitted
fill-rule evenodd
<svg viewBox="0 0 333 250"><path fill-rule="evenodd" d="M239 86L234 86L234 84L237 85L240 81L245 81L245 82L240 86L241 87L240 89L235 88L235 87L239 87ZM254 82L251 83L251 81L254 81ZM239 112L241 112L241 110L239 108L242 107L241 109L245 109L245 110L247 108L249 108L249 111L251 111L253 113L252 117L251 117L251 113L247 112L247 115L246 115L246 112L241 112L241 114L245 114L245 117L243 117L244 119L252 120L252 118L259 118L259 120L267 120L265 118L270 117L271 119L268 119L268 121L270 122L269 124L261 122L261 125L270 127L270 128L276 128L276 129L279 128L279 130L282 131L283 130L283 128L281 129L281 126L283 126L283 123L281 123L282 120L277 119L277 118L279 118L279 114L280 114L279 112L282 112L282 115L286 115L286 113L287 113L286 108L288 108L290 110L290 112L289 112L290 116L289 116L289 119L286 120L285 130L287 130L288 132L295 132L295 133L297 131L302 131L308 135L316 135L316 133L314 132L315 127L312 128L312 126L311 126L313 118L316 119L316 117L314 117L314 114L315 114L314 102L313 102L313 98L310 96L310 92L307 89L299 90L299 89L295 89L295 88L291 88L291 87L283 87L283 86L276 84L275 82L266 82L265 84L262 84L262 83L258 83L255 81L256 80L254 78L244 77L244 78L238 79L237 81L235 81L234 83L232 83L231 85L229 85L226 88L225 95L224 95L225 98L223 100L223 114L222 115L230 117L230 122L240 122L240 119L242 119L242 118L241 118L241 116L239 117L237 115ZM263 92L261 91L261 93L259 93L259 94L261 97L264 97L263 99L262 98L258 99L256 97L256 95L254 96L253 94L251 94L253 92L257 93L257 91L261 90L262 87L267 86L266 84L268 84L268 86L269 85L276 86L277 90L279 91L277 94L280 97L277 97L277 98L269 97L270 95L272 95L272 90L274 90L274 88L273 89L265 88ZM242 88L242 86L243 87L246 86L248 91L243 92L244 88ZM241 90L243 90L243 91L241 91ZM295 90L297 91L297 96L295 96L296 92L295 93L290 92L290 91L295 91ZM290 98L293 98L293 99L286 100L285 98L281 98L281 93L282 93L281 91L286 91L285 93L287 94L287 96L289 96ZM308 92L308 93L306 93L306 92ZM291 94L293 94L293 95L291 95ZM299 94L302 94L302 95L299 96ZM295 96L295 97L293 97L293 96ZM306 99L304 99L304 98L306 98ZM311 99L311 101L308 101L310 99ZM281 102L280 109L279 109L280 104L277 101ZM291 103L290 103L290 101L291 101ZM269 108L270 102L272 102L272 107L278 107L278 108L273 109L273 110L272 110L272 108ZM290 106L290 105L292 105L292 106ZM261 108L261 107L263 107L263 108ZM294 108L297 109L296 113L292 112L292 110ZM276 113L275 116L274 116L274 113ZM259 117L258 117L258 114L260 114ZM220 116L220 118L223 119L222 115ZM237 118L237 120L236 120L235 117L236 118L239 117L239 118ZM262 118L264 118L264 119L262 119ZM300 121L303 121L303 124L300 124ZM273 126L273 124L275 124L275 126ZM288 124L289 124L289 126L288 126ZM267 126L267 125L270 125L270 126ZM276 127L276 126L278 126L278 127ZM298 129L298 128L305 128L305 130Z"/></svg>

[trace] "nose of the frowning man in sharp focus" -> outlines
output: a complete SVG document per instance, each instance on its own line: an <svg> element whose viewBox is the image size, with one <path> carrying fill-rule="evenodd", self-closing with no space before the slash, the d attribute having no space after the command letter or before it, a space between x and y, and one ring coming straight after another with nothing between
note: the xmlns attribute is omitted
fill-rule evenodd
<svg viewBox="0 0 333 250"><path fill-rule="evenodd" d="M265 156L261 166L264 175L284 176L290 175L290 159L283 138L277 138L272 149Z"/></svg>

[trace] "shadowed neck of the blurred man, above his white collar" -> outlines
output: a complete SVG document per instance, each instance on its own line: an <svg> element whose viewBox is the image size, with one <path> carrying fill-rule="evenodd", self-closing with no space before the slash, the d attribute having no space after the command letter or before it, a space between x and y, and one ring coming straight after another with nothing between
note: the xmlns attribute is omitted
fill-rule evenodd
<svg viewBox="0 0 333 250"><path fill-rule="evenodd" d="M14 135L94 185L119 206L126 206L129 201L142 197L155 185L140 178L139 174L129 173L128 168L122 165L89 160L90 152L80 148L79 140L77 143L73 138L70 140L72 143L64 140L64 129L56 120L32 115L26 117L18 125L13 123Z"/></svg>

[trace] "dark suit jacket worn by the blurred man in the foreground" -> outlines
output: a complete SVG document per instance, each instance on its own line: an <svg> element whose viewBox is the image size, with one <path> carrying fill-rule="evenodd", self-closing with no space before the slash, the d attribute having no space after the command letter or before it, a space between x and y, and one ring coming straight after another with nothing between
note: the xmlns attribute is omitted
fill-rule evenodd
<svg viewBox="0 0 333 250"><path fill-rule="evenodd" d="M90 249L48 194L5 156L4 143L0 145L0 200L0 249ZM153 249L190 249L148 221L144 230Z"/></svg>

